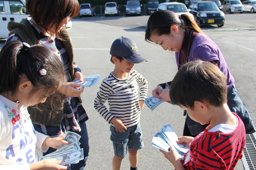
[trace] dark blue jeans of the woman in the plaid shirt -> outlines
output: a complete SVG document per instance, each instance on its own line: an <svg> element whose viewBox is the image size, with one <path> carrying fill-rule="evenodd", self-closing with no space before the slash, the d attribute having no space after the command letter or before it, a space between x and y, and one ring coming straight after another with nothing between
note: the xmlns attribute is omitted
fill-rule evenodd
<svg viewBox="0 0 256 170"><path fill-rule="evenodd" d="M36 128L37 126L34 126L34 127L35 127L36 131L42 133L42 131L40 129ZM80 148L83 148L83 150L84 150L84 159L80 160L79 163L77 163L77 164L70 164L70 166L68 167L69 170L77 170L77 169L84 170L86 161L87 161L87 158L89 155L89 137L88 137L88 133L87 133L86 123L85 122L82 123L80 125L80 128L82 129L81 132L75 132L75 133L81 135L79 142L81 143ZM46 152L43 152L43 156L50 154L56 150L57 149L50 147Z"/></svg>

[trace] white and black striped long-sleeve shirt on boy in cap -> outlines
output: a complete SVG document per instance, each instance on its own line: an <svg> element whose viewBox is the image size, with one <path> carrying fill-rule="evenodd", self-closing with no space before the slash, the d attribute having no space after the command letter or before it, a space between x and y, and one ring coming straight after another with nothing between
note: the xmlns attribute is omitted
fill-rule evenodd
<svg viewBox="0 0 256 170"><path fill-rule="evenodd" d="M110 73L100 85L94 100L94 108L108 123L116 117L123 121L126 128L129 128L139 123L141 113L139 100L145 100L147 92L148 82L137 71L132 70L129 77L122 80ZM104 105L106 100L109 110Z"/></svg>

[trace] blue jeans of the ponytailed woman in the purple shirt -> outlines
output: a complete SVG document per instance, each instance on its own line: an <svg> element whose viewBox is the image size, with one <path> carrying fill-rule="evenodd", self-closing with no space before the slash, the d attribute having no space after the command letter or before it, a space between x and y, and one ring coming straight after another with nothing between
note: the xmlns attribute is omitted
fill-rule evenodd
<svg viewBox="0 0 256 170"><path fill-rule="evenodd" d="M228 107L231 112L236 113L241 118L241 120L244 123L246 134L251 134L251 133L255 132L255 127L253 125L250 113L247 111L242 100L238 96L238 92L235 88L235 84L233 84L233 86L231 86L228 89ZM191 120L191 118L188 115L186 117L185 123L187 123L188 128L186 128L186 124L185 124L185 129L183 130L183 135L184 134L189 135L189 133L190 133L191 136L195 136L195 135L201 133L202 131L204 131L204 129L205 129L205 126Z"/></svg>

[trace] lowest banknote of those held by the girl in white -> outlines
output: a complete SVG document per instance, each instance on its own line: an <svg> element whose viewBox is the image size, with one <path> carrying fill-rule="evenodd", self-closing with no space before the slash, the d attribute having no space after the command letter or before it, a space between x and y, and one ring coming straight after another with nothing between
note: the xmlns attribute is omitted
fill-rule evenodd
<svg viewBox="0 0 256 170"><path fill-rule="evenodd" d="M78 149L74 151L66 151L60 152L58 154L51 154L49 156L40 157L39 160L55 158L57 160L62 160L60 165L67 165L77 162L79 160L84 159L84 151L83 149Z"/></svg>

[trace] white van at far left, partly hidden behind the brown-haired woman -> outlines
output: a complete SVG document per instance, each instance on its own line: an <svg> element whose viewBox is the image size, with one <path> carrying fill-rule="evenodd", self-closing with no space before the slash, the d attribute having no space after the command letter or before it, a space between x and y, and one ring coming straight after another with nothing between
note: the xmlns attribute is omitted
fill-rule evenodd
<svg viewBox="0 0 256 170"><path fill-rule="evenodd" d="M29 16L25 8L25 0L0 1L0 16L0 38L8 38L8 22L20 22L23 18Z"/></svg>

